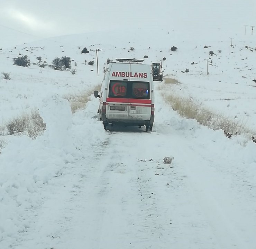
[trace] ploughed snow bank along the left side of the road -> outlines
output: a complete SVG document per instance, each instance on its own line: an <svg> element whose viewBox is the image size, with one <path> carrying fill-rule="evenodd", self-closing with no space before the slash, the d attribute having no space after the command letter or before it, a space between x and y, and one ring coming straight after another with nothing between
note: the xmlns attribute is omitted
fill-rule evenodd
<svg viewBox="0 0 256 249"><path fill-rule="evenodd" d="M84 152L93 144L106 139L102 123L95 116L95 104L90 101L88 110L72 116L67 100L57 95L47 98L39 108L46 123L44 135L36 140L14 137L2 150L0 242L14 242L18 233L29 227L24 216L28 209L39 205L38 188L77 158L86 156Z"/></svg>

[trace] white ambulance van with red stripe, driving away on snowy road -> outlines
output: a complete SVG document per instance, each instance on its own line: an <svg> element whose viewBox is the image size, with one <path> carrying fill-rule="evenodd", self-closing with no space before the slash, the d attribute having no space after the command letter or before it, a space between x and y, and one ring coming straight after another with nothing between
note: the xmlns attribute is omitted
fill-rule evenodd
<svg viewBox="0 0 256 249"><path fill-rule="evenodd" d="M153 76L144 60L116 59L104 69L99 114L104 129L108 124L144 126L152 130L155 117Z"/></svg>

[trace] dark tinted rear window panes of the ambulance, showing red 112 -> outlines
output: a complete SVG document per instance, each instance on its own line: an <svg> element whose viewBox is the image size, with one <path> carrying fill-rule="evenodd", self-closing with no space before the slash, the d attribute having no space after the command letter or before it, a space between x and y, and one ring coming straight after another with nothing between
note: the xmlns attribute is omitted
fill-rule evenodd
<svg viewBox="0 0 256 249"><path fill-rule="evenodd" d="M110 98L149 99L149 82L111 80Z"/></svg>

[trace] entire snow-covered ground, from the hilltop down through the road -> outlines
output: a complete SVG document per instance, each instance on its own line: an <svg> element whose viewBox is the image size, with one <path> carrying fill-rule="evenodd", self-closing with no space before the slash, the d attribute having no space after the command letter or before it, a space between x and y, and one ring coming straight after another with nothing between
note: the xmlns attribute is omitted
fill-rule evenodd
<svg viewBox="0 0 256 249"><path fill-rule="evenodd" d="M175 30L138 29L55 37L0 51L0 71L11 77L0 79L1 123L34 108L46 123L35 140L2 129L0 248L254 248L255 143L244 147L241 136L228 139L222 130L181 118L161 95L193 98L254 129L254 36L237 35L234 47L217 33L185 37ZM83 47L102 49L99 77L95 64L85 64L96 61L95 53L81 54ZM19 54L28 56L29 68L13 66ZM148 64L165 57L164 75L180 82L163 90L155 83L152 133L132 127L105 132L93 96L84 110L71 113L62 97L96 87L107 58L145 55ZM46 65L71 57L76 73L40 68L38 56ZM163 163L166 156L174 157L171 165Z"/></svg>

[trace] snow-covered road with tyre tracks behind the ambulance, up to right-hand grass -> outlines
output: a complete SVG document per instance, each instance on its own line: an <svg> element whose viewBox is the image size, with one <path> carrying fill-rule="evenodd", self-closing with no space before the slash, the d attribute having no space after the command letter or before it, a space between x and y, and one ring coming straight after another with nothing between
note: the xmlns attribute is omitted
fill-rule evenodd
<svg viewBox="0 0 256 249"><path fill-rule="evenodd" d="M85 112L96 107L93 100ZM104 132L94 117L99 131L85 130L79 140L76 123L79 156L37 186L36 208L23 217L29 228L12 248L254 248L255 145L180 118L160 95L156 111L151 133ZM93 130L101 141L88 146L83 139Z"/></svg>

